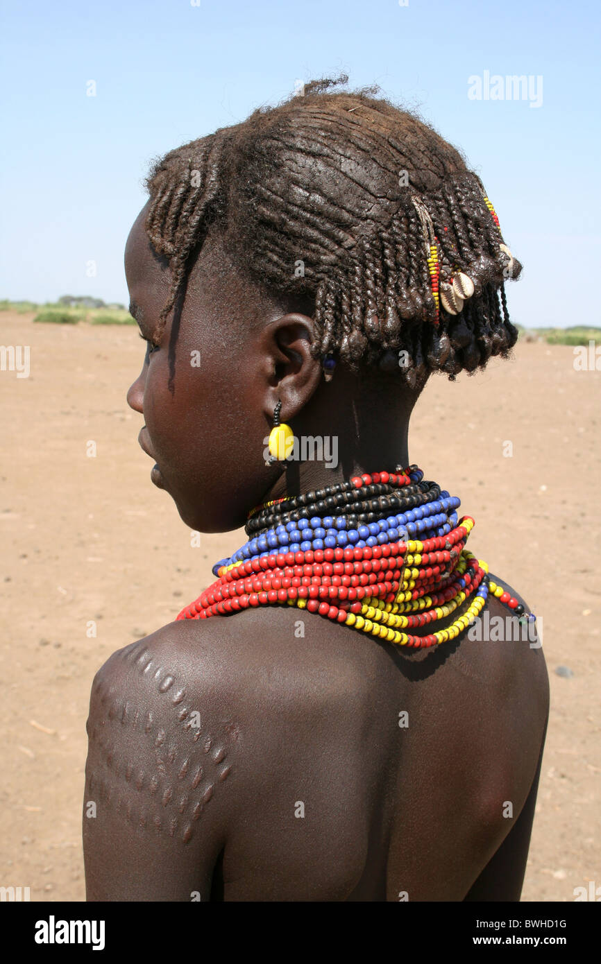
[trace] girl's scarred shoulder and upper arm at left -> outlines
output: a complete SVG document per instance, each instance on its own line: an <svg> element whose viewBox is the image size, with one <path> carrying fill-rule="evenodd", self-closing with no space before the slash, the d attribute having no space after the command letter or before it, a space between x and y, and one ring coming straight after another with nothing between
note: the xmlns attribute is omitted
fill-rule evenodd
<svg viewBox="0 0 601 964"><path fill-rule="evenodd" d="M159 629L96 673L83 815L89 900L209 897L244 778L239 702L216 645L223 632L200 629Z"/></svg>

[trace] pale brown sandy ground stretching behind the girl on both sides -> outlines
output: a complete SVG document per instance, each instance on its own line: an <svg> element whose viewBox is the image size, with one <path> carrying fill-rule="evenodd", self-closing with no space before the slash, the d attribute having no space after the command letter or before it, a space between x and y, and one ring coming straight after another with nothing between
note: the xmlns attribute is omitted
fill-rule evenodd
<svg viewBox="0 0 601 964"><path fill-rule="evenodd" d="M137 329L32 319L0 314L2 344L31 352L28 378L0 371L0 885L29 886L32 900L83 900L94 673L171 622L244 535L203 535L192 548L171 499L151 485L142 419L125 404L143 358ZM524 900L601 886L601 372L573 361L569 347L520 344L512 362L476 377L432 379L410 438L411 460L475 516L470 549L543 621L552 710Z"/></svg>

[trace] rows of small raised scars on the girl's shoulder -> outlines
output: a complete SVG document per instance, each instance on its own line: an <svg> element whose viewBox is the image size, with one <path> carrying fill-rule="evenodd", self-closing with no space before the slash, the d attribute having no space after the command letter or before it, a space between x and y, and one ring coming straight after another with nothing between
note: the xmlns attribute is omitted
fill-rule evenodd
<svg viewBox="0 0 601 964"><path fill-rule="evenodd" d="M95 721L89 725L86 801L96 799L98 809L111 807L139 832L153 828L188 844L217 786L232 772L239 726L232 719L220 720L217 730L207 730L202 721L195 725L191 714L198 721L198 710L182 706L185 688L176 685L173 673L154 662L148 645L135 644L122 659L150 678L161 697L169 701L178 738L168 738L169 723L164 717L167 729L157 724L155 712L134 705L131 697L124 699L100 677L93 696L96 707L104 711L96 711ZM150 741L153 767L141 768L135 760L117 753L114 734L124 727L135 730L140 740ZM133 754L132 749L130 756Z"/></svg>

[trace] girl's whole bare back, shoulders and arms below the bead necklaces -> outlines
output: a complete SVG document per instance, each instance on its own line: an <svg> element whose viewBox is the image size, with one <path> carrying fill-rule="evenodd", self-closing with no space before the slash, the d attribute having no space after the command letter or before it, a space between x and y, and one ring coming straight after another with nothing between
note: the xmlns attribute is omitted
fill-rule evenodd
<svg viewBox="0 0 601 964"><path fill-rule="evenodd" d="M487 609L505 617L496 600ZM129 880L117 897L94 869L102 828L84 818L89 899L190 899L197 888L202 899L225 900L518 899L548 713L541 650L464 635L406 653L299 615L272 607L178 623L105 664L88 779L108 781L113 799L124 790L118 809L130 824L149 803L137 833L152 824L151 836L171 836L174 850L167 844L158 891L147 881L136 896ZM148 681L160 690L169 678L169 690L152 696ZM148 737L121 719L120 692L136 690ZM174 690L184 696L154 736ZM123 760L141 740L154 744L141 791L131 774L120 778L114 739L107 765L107 727ZM135 864L123 819L107 831ZM501 874L491 872L495 862ZM183 879L177 893L172 863Z"/></svg>

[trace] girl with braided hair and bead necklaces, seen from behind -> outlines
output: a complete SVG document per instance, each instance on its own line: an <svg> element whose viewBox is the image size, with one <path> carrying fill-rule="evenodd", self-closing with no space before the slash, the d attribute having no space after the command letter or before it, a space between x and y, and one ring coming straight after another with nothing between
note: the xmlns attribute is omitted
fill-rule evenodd
<svg viewBox="0 0 601 964"><path fill-rule="evenodd" d="M544 657L407 433L510 351L521 265L454 147L333 85L168 153L127 240L151 479L247 541L96 674L90 900L520 897Z"/></svg>

